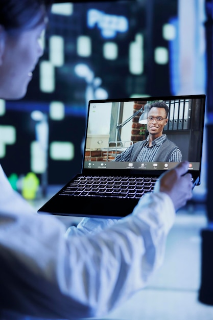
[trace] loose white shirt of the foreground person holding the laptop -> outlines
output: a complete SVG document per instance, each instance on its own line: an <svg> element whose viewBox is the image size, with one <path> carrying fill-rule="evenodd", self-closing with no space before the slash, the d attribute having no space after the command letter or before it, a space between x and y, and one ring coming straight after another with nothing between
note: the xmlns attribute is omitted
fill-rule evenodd
<svg viewBox="0 0 213 320"><path fill-rule="evenodd" d="M84 218L66 232L12 190L1 166L0 190L0 309L103 316L144 288L162 263L175 218L164 193L144 196L121 220Z"/></svg>

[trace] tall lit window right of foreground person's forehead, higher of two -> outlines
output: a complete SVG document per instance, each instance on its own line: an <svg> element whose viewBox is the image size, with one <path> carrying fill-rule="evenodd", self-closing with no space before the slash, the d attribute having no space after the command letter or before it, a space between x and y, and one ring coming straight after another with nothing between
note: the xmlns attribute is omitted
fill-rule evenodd
<svg viewBox="0 0 213 320"><path fill-rule="evenodd" d="M64 39L60 36L50 37L50 61L54 66L64 64Z"/></svg>

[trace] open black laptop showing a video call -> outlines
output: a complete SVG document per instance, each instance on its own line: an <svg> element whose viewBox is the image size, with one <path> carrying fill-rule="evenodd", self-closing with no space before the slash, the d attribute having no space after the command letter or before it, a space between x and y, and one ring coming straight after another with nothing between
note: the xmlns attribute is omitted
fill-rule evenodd
<svg viewBox="0 0 213 320"><path fill-rule="evenodd" d="M169 107L167 120L147 120L150 104L157 101ZM82 171L38 212L79 217L127 216L144 194L153 191L159 176L183 160L190 163L188 172L194 186L199 185L204 111L205 95L89 101ZM170 141L173 148L169 155L164 148L151 158L139 153L129 157L133 146L138 149L141 142L146 143L147 121L157 123L157 127L163 124L164 138L160 139Z"/></svg>

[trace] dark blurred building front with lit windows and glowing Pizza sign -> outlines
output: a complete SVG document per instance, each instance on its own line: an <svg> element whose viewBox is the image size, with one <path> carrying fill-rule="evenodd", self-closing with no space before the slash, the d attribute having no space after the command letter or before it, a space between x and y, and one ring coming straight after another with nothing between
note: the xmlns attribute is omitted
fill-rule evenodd
<svg viewBox="0 0 213 320"><path fill-rule="evenodd" d="M27 96L0 101L13 186L38 196L81 170L89 99L205 93L204 21L204 0L54 4Z"/></svg>

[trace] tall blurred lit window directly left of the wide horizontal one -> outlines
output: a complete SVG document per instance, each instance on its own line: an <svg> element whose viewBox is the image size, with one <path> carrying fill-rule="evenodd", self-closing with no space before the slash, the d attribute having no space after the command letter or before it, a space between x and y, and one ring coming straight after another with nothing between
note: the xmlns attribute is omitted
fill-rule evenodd
<svg viewBox="0 0 213 320"><path fill-rule="evenodd" d="M46 171L46 151L41 148L38 141L31 143L31 170L35 173L43 173Z"/></svg>

